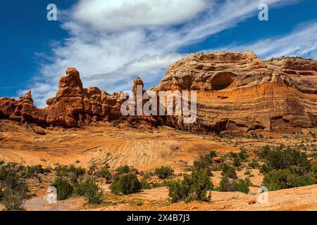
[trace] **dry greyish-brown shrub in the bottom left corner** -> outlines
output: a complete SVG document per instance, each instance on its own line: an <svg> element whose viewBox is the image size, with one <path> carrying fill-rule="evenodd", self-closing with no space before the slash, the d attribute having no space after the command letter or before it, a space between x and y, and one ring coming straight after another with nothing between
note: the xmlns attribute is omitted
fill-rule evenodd
<svg viewBox="0 0 317 225"><path fill-rule="evenodd" d="M27 200L27 185L15 174L9 174L1 184L2 201L6 210L20 210Z"/></svg>

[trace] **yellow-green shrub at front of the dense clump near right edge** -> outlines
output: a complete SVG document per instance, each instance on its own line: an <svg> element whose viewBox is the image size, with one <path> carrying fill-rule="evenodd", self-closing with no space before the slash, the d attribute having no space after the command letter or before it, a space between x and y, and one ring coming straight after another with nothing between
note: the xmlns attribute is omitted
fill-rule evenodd
<svg viewBox="0 0 317 225"><path fill-rule="evenodd" d="M273 169L264 175L263 186L269 191L277 191L285 188L294 188L307 186L316 183L312 173L299 175L290 171L290 169Z"/></svg>

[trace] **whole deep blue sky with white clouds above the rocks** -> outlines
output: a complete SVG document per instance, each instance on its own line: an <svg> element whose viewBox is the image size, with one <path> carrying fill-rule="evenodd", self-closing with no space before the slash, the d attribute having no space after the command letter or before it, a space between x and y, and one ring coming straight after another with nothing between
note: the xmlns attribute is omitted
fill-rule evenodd
<svg viewBox="0 0 317 225"><path fill-rule="evenodd" d="M46 6L58 21L46 20ZM261 3L269 20L258 19ZM171 63L199 51L255 51L317 59L315 0L53 0L1 3L0 96L32 90L45 106L68 67L84 86L157 84Z"/></svg>

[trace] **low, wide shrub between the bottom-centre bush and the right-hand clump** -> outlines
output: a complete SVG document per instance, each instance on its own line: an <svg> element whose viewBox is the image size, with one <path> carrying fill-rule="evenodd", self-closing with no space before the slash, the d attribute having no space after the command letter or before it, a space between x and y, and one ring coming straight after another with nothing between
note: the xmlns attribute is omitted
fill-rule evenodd
<svg viewBox="0 0 317 225"><path fill-rule="evenodd" d="M223 176L220 181L218 191L240 191L242 193L249 193L250 179L230 179Z"/></svg>

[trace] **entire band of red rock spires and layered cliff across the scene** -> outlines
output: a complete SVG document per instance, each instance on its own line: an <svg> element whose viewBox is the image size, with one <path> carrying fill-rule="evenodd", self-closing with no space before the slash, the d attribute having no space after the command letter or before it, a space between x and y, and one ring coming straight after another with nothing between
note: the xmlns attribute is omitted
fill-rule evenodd
<svg viewBox="0 0 317 225"><path fill-rule="evenodd" d="M138 77L134 93L137 85L143 87ZM18 100L0 98L0 119L62 127L125 120L204 133L292 132L317 127L315 60L282 57L263 61L254 53L196 53L171 65L153 90L197 91L197 121L183 124L178 115L125 117L120 113L125 101L120 94L83 88L75 68L66 70L56 96L46 101L44 109L33 104L30 92Z"/></svg>

